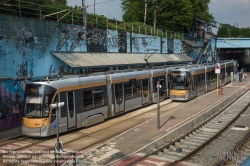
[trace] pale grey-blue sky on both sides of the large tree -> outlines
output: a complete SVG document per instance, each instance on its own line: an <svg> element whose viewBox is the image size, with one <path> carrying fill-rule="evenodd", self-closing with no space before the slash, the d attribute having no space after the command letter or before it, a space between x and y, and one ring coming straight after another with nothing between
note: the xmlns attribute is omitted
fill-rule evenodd
<svg viewBox="0 0 250 166"><path fill-rule="evenodd" d="M69 6L82 5L82 0L67 1ZM107 18L122 21L121 0L85 0L85 5L89 5L88 13L94 13L94 2L96 14L104 14ZM209 13L219 23L230 24L238 28L250 27L250 0L211 0Z"/></svg>

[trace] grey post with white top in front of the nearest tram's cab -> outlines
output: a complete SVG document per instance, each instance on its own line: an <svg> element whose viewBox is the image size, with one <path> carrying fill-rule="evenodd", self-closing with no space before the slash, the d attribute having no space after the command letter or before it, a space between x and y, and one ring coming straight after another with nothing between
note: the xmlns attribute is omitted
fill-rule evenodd
<svg viewBox="0 0 250 166"><path fill-rule="evenodd" d="M57 127L57 134L56 134L56 144L55 144L55 166L59 166L60 165L60 157L59 157L59 154L60 154L60 151L63 150L63 145L62 143L59 141L59 117L58 117L58 111L60 107L63 107L64 106L64 102L60 102L60 103L55 103L55 104L50 104L49 107L51 109L57 109L56 110L56 127Z"/></svg>

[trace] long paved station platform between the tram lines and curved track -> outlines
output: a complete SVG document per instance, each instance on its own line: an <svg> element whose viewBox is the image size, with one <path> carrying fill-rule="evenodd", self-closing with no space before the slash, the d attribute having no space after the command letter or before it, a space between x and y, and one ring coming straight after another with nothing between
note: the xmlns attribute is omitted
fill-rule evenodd
<svg viewBox="0 0 250 166"><path fill-rule="evenodd" d="M223 88L223 95L217 95L213 90L184 104L183 107L168 110L158 119L154 117L138 126L109 140L101 146L78 156L84 158L83 163L77 165L129 165L136 159L171 142L175 138L194 128L212 114L231 103L236 97L249 90L250 80L246 82L234 81ZM78 158L77 157L77 158ZM168 165L169 159L152 156L137 164L143 165ZM180 163L179 166L188 166Z"/></svg>

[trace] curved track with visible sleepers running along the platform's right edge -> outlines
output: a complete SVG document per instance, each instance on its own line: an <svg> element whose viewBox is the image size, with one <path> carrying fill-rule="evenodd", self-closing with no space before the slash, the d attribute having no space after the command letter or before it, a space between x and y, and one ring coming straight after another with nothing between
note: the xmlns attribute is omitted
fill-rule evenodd
<svg viewBox="0 0 250 166"><path fill-rule="evenodd" d="M245 95L246 92L243 95ZM167 145L164 145L162 148L154 150L152 153L146 154L128 165L136 165L140 161L146 160L151 155L171 159L174 162L170 165L176 165L179 162L190 158L208 145L212 140L216 139L221 132L226 130L228 126L236 121L237 118L239 118L239 116L249 107L248 101L244 108L241 108L240 110L235 109L237 112L234 112L231 115L225 115L225 111L232 107L236 101L239 101L243 95L235 99L230 105L224 107L198 127L185 133L183 136L168 143Z"/></svg>

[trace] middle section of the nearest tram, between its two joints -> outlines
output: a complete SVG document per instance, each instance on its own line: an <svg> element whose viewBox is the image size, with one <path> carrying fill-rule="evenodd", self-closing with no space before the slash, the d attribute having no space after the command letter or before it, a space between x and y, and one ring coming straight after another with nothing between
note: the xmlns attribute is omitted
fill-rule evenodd
<svg viewBox="0 0 250 166"><path fill-rule="evenodd" d="M149 73L137 71L111 74L114 115L149 104Z"/></svg>

